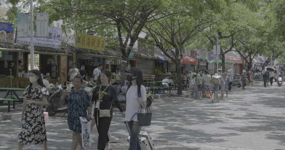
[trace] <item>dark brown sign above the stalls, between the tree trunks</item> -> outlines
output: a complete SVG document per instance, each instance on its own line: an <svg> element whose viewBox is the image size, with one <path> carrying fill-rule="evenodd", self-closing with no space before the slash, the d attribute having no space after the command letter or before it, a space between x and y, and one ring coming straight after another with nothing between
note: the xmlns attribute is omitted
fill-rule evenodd
<svg viewBox="0 0 285 150"><path fill-rule="evenodd" d="M138 39L138 52L153 55L154 45L150 43L152 43L152 41L149 39L139 38Z"/></svg>

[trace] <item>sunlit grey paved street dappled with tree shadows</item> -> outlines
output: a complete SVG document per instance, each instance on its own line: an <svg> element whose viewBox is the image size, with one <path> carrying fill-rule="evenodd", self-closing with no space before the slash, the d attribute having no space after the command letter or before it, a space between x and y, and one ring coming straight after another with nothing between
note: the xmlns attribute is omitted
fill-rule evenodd
<svg viewBox="0 0 285 150"><path fill-rule="evenodd" d="M285 86L237 88L220 103L171 97L155 100L153 121L144 127L158 150L285 150ZM127 131L119 113L111 124L120 138L115 150L127 150ZM0 122L0 150L17 150L20 121ZM96 132L94 132L96 133ZM66 116L47 121L49 150L70 150L71 132ZM96 150L96 144L88 150ZM24 150L43 150L26 146Z"/></svg>

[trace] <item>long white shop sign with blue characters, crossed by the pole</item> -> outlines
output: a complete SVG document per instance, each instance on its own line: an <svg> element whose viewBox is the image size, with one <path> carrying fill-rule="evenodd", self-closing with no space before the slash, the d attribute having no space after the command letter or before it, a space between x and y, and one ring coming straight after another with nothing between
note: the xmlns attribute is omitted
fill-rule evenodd
<svg viewBox="0 0 285 150"><path fill-rule="evenodd" d="M52 47L60 48L61 47L61 29L55 27L48 27L48 37L47 38L34 38L35 46L42 47ZM17 43L30 45L31 38L17 38Z"/></svg>

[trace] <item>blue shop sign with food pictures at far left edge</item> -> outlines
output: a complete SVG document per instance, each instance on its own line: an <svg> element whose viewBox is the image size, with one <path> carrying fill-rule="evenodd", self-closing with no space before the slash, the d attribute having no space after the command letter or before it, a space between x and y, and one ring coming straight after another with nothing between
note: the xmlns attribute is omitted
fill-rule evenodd
<svg viewBox="0 0 285 150"><path fill-rule="evenodd" d="M13 24L0 22L0 42L13 43L14 40L14 28Z"/></svg>

